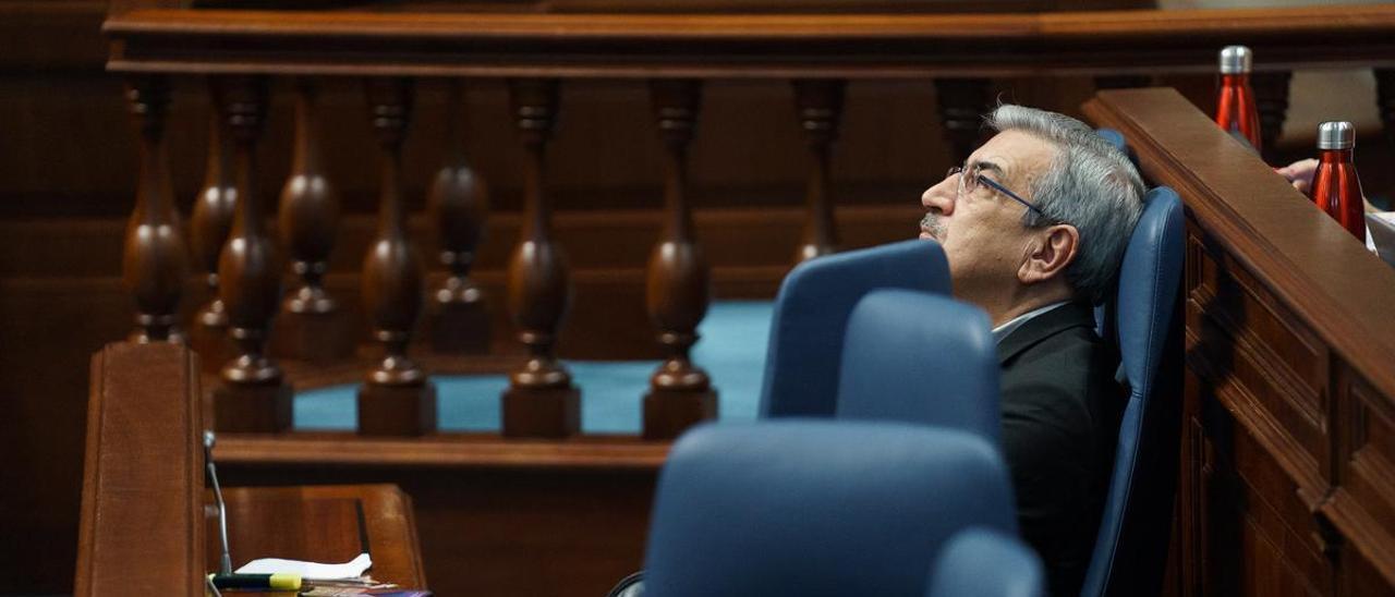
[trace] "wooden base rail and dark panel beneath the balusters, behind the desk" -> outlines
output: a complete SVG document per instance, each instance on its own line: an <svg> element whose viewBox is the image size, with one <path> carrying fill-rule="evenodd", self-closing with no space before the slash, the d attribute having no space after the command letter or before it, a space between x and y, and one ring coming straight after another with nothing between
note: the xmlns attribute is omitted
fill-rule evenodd
<svg viewBox="0 0 1395 597"><path fill-rule="evenodd" d="M338 449L336 449L338 448ZM412 497L442 596L604 594L642 566L667 444L469 435L219 438L229 484L393 483ZM338 452L338 455L336 455ZM328 462L326 462L328 460Z"/></svg>

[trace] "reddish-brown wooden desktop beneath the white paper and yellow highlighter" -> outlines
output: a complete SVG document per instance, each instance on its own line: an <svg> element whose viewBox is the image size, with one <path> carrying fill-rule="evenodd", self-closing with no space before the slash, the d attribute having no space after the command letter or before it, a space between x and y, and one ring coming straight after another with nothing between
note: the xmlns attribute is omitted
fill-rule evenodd
<svg viewBox="0 0 1395 597"><path fill-rule="evenodd" d="M258 558L342 564L368 551L374 579L425 587L412 498L396 485L233 487L223 499L234 569ZM211 570L220 552L216 512L205 508L204 559Z"/></svg>

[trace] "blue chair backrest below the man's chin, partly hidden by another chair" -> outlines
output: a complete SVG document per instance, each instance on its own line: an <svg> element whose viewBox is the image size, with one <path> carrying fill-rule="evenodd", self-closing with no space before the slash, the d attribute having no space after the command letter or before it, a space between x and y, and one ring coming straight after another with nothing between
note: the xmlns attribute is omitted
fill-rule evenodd
<svg viewBox="0 0 1395 597"><path fill-rule="evenodd" d="M949 294L949 262L939 243L908 240L806 261L776 297L760 389L760 416L831 417L843 333L869 290L898 287Z"/></svg>

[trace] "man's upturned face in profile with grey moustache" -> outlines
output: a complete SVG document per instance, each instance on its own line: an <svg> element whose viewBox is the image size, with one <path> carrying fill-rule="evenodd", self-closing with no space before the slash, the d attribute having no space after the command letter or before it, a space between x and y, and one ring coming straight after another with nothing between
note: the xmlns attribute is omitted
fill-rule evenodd
<svg viewBox="0 0 1395 597"><path fill-rule="evenodd" d="M1046 141L1004 131L978 148L964 166L1032 201L1032 184L1055 155ZM963 194L960 188L960 174L954 174L921 194L926 208L921 239L935 239L944 247L956 296L971 298L986 296L976 289L1017 285L1031 250L1027 240L1034 233L1023 226L1027 208L988 184L965 180Z"/></svg>

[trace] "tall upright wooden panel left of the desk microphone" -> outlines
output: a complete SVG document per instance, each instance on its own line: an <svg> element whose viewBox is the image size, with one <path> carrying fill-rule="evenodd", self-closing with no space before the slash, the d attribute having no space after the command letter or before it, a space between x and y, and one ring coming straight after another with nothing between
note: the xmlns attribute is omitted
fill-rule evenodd
<svg viewBox="0 0 1395 597"><path fill-rule="evenodd" d="M197 357L116 343L92 357L74 594L204 591Z"/></svg>

